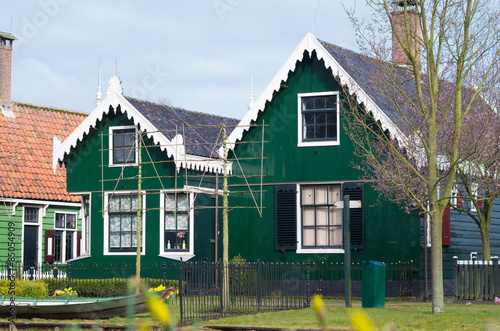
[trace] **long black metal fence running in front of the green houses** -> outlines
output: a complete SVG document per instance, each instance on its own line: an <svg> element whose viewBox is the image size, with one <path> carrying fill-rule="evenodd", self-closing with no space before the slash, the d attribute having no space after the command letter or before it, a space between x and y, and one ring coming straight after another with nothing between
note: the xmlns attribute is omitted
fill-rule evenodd
<svg viewBox="0 0 500 331"><path fill-rule="evenodd" d="M112 297L127 294L127 281L135 275L135 264L43 264L23 266L0 262L0 279L13 272L18 279L44 282L49 295L72 287L80 297ZM148 287L164 285L179 290L181 321L218 318L263 311L308 307L313 294L344 297L342 263L326 259L306 263L199 262L150 263L141 268ZM227 276L227 278L224 277ZM224 279L227 285L224 286ZM362 265L351 266L352 296L361 297ZM226 290L224 290L226 289ZM413 295L413 264L389 263L386 297Z"/></svg>

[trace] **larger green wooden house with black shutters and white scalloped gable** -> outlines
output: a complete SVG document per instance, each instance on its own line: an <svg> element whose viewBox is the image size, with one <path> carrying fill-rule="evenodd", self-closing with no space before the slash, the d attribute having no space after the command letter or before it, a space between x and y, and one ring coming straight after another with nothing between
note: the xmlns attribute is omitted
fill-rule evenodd
<svg viewBox="0 0 500 331"><path fill-rule="evenodd" d="M372 61L308 34L233 130L230 157L241 164L233 162L233 174L264 176L248 185L230 181L231 190L253 189L257 196L254 203L249 194L230 194L230 206L255 207L231 211L230 256L343 262L342 197L348 194L353 261L413 261L419 269L420 216L380 203L379 193L359 181L359 160L345 132L352 111L346 93L355 93L385 129L396 130L387 101L370 88Z"/></svg>

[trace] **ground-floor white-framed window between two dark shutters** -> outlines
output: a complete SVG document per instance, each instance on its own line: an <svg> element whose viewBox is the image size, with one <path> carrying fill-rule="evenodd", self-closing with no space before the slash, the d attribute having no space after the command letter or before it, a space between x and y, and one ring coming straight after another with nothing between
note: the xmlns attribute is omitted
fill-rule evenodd
<svg viewBox="0 0 500 331"><path fill-rule="evenodd" d="M300 185L297 253L343 253L340 184Z"/></svg>

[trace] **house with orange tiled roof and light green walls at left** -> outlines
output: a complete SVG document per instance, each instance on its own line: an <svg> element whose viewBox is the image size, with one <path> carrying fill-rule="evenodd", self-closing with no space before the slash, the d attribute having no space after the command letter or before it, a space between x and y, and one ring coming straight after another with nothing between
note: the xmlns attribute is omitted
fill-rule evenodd
<svg viewBox="0 0 500 331"><path fill-rule="evenodd" d="M0 33L0 261L66 263L81 253L81 200L52 152L86 114L11 101L14 41Z"/></svg>

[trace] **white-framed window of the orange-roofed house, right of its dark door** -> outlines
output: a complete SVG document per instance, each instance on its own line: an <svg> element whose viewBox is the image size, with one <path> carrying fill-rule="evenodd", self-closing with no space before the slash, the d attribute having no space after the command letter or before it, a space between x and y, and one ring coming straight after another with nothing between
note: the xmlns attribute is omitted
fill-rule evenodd
<svg viewBox="0 0 500 331"><path fill-rule="evenodd" d="M76 213L54 213L54 262L66 263L76 257Z"/></svg>

